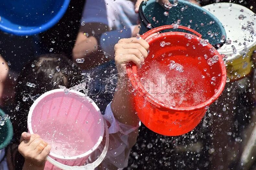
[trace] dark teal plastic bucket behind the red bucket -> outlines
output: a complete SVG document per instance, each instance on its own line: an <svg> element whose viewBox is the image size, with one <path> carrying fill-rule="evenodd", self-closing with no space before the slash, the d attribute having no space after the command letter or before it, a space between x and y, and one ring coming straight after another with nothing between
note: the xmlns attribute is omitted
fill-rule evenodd
<svg viewBox="0 0 256 170"><path fill-rule="evenodd" d="M173 4L174 0L169 1ZM168 12L169 15L165 16L164 12ZM171 25L180 20L180 25L196 30L203 39L208 39L209 43L216 49L222 46L226 40L226 32L221 22L204 8L187 1L179 0L177 6L173 6L169 11L166 11L155 0L142 2L139 18L141 35L152 28ZM148 24L151 24L151 27ZM176 31L186 32L182 29Z"/></svg>

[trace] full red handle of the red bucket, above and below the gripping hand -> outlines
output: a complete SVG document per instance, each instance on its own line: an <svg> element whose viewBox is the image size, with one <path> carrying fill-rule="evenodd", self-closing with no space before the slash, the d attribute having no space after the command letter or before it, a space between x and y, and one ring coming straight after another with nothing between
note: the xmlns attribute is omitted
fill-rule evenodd
<svg viewBox="0 0 256 170"><path fill-rule="evenodd" d="M157 28L153 28L153 29L147 31L145 34L141 35L141 38L146 39L147 37L149 37L150 35L152 35L152 34L154 34L154 33L157 33L157 32L159 32L159 31L162 31L162 30L165 30L165 29L172 29L172 28L173 28L172 25L159 26L159 27L157 27ZM188 27L179 25L178 28L179 28L179 29L186 30L186 31L190 31L190 32L192 32L193 34L197 35L199 38L202 38L202 35L201 35L201 34L199 34L199 33L196 32L195 30L192 30L192 29L190 29L190 28L188 28ZM136 66L133 62L131 62L131 64L129 64L129 65L127 66L127 73L130 74L130 75L133 75L133 71L132 71L132 70L136 70L136 71L137 71L137 66ZM136 80L135 77L137 77L137 75L134 75L134 77L132 76L132 78L130 78L130 80L131 80L132 84L134 85L134 87L135 87L141 94L143 94L143 95L145 96L145 98L146 98L152 105L154 105L155 107L157 107L157 108L159 108L159 109L163 109L163 108L164 108L164 104L162 105L163 107L162 107L161 105L159 105L159 104L156 104L155 101L154 101L152 98L150 98L150 97L148 97L147 95L145 95L145 94L147 94L147 92L146 92L146 90L145 90L141 85L140 85L141 88L138 88L138 87L139 87L139 85L137 84L137 81L138 81L138 80ZM161 103L161 102L159 102L159 103Z"/></svg>

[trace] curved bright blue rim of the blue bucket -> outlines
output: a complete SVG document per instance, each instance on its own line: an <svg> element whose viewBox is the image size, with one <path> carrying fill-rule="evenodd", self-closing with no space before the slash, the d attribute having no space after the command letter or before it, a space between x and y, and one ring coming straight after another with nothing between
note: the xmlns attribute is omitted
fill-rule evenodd
<svg viewBox="0 0 256 170"><path fill-rule="evenodd" d="M48 22L46 22L42 25L30 26L29 29L26 29L26 30L22 30L22 29L17 30L17 29L13 29L12 27L8 27L8 26L2 24L2 22L0 20L0 30L2 30L3 32L9 33L9 34L14 34L14 35L18 35L18 36L40 34L44 31L50 29L62 18L62 16L65 14L65 12L69 6L69 2L70 2L70 0L63 0L63 3L61 5L61 8L58 11L58 13L52 19L50 19Z"/></svg>

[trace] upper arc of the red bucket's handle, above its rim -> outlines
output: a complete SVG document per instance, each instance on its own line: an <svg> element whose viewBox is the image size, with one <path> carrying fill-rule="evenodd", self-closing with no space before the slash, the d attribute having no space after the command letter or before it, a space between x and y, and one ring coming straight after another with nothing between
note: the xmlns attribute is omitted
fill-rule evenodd
<svg viewBox="0 0 256 170"><path fill-rule="evenodd" d="M153 29L149 30L148 32L146 32L145 34L141 35L141 38L146 39L149 35L152 35L152 34L154 34L154 33L157 33L157 32L159 32L159 31L162 31L162 30L165 30L165 29L172 29L172 28L173 28L172 25L159 26L159 27L153 28ZM188 28L188 27L179 25L178 28L179 28L179 29L186 30L186 31L190 31L190 32L194 33L195 35L197 35L199 38L202 38L202 35L201 35L201 34L199 34L199 33L196 32L195 30L192 30L192 29L190 29L190 28Z"/></svg>

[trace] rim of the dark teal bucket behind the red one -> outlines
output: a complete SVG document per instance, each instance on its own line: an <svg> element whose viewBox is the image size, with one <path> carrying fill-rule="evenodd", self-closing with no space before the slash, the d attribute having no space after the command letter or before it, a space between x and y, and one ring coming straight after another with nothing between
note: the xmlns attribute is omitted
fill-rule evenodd
<svg viewBox="0 0 256 170"><path fill-rule="evenodd" d="M152 1L152 2L151 2ZM173 0L169 0L169 1L173 1ZM146 3L155 3L154 0L149 0L149 1L142 1L141 4L140 4L140 7L139 7L139 18L140 20L142 21L141 23L145 26L145 28L147 29L147 31L153 29L153 28L156 28L154 25L152 25L147 17L144 15L143 13L143 5L145 5L145 2ZM183 4L185 5L188 5L188 6L191 6L191 7L194 7L194 8L197 8L198 10L202 10L203 12L205 12L207 15L209 15L210 17L212 17L215 22L218 24L219 28L221 29L221 32L222 32L222 36L224 35L225 36L225 41L222 43L222 42L219 42L218 44L215 44L213 45L215 47L215 49L219 49L220 47L222 47L225 42L226 42L226 37L227 37L227 33L226 33L226 30L224 29L224 26L222 25L222 23L219 21L219 19L217 17L215 17L215 15L213 15L212 13L210 13L208 10L204 9L203 7L201 6L198 6L198 5L195 5L193 3L190 3L188 1L184 1L184 0L179 0L179 2L182 2ZM147 25L148 24L151 24L151 28L147 28ZM201 34L201 33L200 33Z"/></svg>

